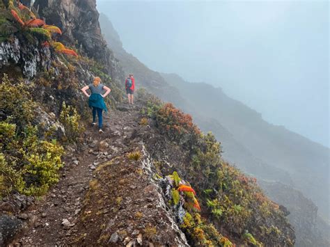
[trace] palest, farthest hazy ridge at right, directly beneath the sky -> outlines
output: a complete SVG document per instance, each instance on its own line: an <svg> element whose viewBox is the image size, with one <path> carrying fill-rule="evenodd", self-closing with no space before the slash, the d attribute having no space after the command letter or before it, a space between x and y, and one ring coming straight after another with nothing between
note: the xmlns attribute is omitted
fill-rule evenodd
<svg viewBox="0 0 330 247"><path fill-rule="evenodd" d="M164 78L172 86L184 90L194 111L213 115L253 156L289 173L294 187L311 198L327 219L329 191L320 188L329 187L329 149L284 127L269 125L259 113L230 99L220 88L205 83L187 83L174 74L164 74ZM236 150L232 152L237 153ZM282 177L277 179L288 184Z"/></svg>

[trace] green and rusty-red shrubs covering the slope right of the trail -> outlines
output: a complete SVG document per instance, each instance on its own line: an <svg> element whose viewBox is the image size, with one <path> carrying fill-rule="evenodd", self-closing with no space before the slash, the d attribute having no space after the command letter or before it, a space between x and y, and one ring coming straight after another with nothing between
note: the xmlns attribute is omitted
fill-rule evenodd
<svg viewBox="0 0 330 247"><path fill-rule="evenodd" d="M140 95L146 97L144 92ZM221 145L212 133L201 133L189 115L152 97L142 115L155 121L159 132L186 150L185 162L175 168L194 186L202 215L219 232L256 246L294 244L285 213L263 195L255 178L246 177L221 159Z"/></svg>

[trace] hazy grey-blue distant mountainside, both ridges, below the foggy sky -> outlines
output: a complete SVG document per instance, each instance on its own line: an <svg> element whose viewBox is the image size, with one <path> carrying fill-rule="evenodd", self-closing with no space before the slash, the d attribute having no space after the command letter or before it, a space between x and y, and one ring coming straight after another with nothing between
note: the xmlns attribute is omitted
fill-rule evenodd
<svg viewBox="0 0 330 247"><path fill-rule="evenodd" d="M231 99L220 88L214 88L207 83L189 83L178 75L159 74L150 70L132 54L127 54L118 33L105 15L100 15L100 25L116 58L127 74L134 74L138 86L148 88L164 101L173 102L180 109L191 113L204 132L212 131L221 141L225 159L244 172L256 176L258 180L272 181L271 186L274 188L279 186L276 181L286 184L288 200L291 193L298 193L292 188L299 189L304 196L316 202L323 218L327 218L329 195L325 193L325 189L319 188L329 186L329 149L289 132L284 127L270 125L262 120L260 113ZM276 190L269 191L271 198L278 198ZM297 203L301 201L290 201L290 205L294 207L290 206L289 209L297 209ZM294 222L297 230L304 228L299 225L300 216L301 212L291 212L291 219L297 219ZM315 217L316 214L313 214L313 221L308 227L316 227ZM329 228L324 235L327 231ZM308 236L297 235L302 238L300 243L308 239Z"/></svg>

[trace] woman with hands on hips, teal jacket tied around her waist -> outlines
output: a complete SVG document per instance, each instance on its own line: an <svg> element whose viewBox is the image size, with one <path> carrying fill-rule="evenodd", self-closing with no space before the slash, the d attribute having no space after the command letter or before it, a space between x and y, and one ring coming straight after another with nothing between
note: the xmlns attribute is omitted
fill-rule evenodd
<svg viewBox="0 0 330 247"><path fill-rule="evenodd" d="M86 90L91 90L91 95L88 95ZM106 90L104 94L103 91ZM111 89L108 88L107 86L104 86L101 83L100 77L95 77L93 83L89 84L88 86L84 86L84 88L81 88L81 91L83 91L84 95L88 97L88 104L89 106L93 109L93 122L92 126L96 125L96 113L97 113L97 118L99 120L99 132L103 133L102 130L102 112L107 111L107 106L104 103L104 97L109 95L111 92Z"/></svg>

